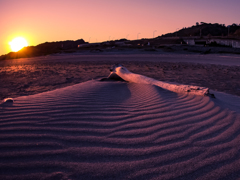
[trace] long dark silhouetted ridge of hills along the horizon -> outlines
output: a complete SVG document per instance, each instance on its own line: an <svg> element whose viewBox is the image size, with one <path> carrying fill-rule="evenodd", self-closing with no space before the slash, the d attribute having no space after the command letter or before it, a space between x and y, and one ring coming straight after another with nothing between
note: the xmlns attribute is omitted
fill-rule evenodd
<svg viewBox="0 0 240 180"><path fill-rule="evenodd" d="M172 37L179 38L172 38ZM159 46L164 44L183 44L183 40L181 37L190 37L190 36L222 36L227 38L238 38L240 37L240 24L232 24L230 26L225 26L224 24L211 24L211 23L196 23L196 25L188 28L182 28L179 31L164 34L162 36L158 36L156 38L150 39L139 39L129 41L127 39L120 39L115 41L107 41L102 43L95 43L95 46L99 49L106 47L117 46L116 42L127 42L127 44L131 45L132 48L136 48L139 46L147 46L148 43L151 43L153 46ZM57 42L45 42L39 44L37 46L28 46L21 49L18 52L10 52L6 55L0 56L0 60L5 59L17 59L24 57L35 57L35 56L43 56L54 53L71 53L76 52L78 50L78 45L87 44L83 39L79 39L76 41L57 41ZM86 49L90 47L93 48L94 44L89 44L90 46L84 46ZM95 47L94 46L94 47ZM82 46L83 47L83 46Z"/></svg>

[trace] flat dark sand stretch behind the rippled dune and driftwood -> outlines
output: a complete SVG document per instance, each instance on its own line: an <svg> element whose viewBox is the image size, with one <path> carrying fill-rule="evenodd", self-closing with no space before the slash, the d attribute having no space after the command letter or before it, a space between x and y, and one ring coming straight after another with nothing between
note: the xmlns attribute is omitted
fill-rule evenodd
<svg viewBox="0 0 240 180"><path fill-rule="evenodd" d="M0 100L107 77L115 63L160 81L240 96L240 57L236 55L76 54L0 61Z"/></svg>

